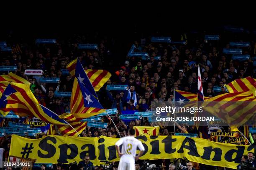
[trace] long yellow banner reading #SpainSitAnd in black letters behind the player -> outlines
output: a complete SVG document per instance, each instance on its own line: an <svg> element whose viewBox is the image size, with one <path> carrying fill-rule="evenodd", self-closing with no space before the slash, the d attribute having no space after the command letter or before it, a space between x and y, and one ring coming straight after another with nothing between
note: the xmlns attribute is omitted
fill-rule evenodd
<svg viewBox="0 0 256 170"><path fill-rule="evenodd" d="M202 138L184 136L137 136L145 151L141 159L184 158L206 165L236 168L243 155L254 152L249 145L216 143ZM10 155L34 158L36 163L72 163L90 156L94 165L100 160L118 161L115 143L118 138L99 138L49 135L40 139L27 139L13 135ZM138 151L139 152L139 151Z"/></svg>

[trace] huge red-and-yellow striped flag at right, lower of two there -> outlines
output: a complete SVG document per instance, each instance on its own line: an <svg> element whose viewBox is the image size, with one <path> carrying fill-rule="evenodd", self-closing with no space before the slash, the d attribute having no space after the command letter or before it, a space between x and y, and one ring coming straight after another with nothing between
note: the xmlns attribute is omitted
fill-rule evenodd
<svg viewBox="0 0 256 170"><path fill-rule="evenodd" d="M256 97L250 91L235 92L211 97L202 106L230 126L239 127L256 113L255 101Z"/></svg>

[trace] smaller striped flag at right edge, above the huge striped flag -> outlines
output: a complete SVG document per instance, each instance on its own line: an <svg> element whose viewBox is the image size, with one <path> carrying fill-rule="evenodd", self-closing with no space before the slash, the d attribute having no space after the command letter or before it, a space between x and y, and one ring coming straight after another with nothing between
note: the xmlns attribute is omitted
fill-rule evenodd
<svg viewBox="0 0 256 170"><path fill-rule="evenodd" d="M225 87L227 87L229 92L251 91L253 93L256 90L256 79L252 77L236 79L225 85Z"/></svg>

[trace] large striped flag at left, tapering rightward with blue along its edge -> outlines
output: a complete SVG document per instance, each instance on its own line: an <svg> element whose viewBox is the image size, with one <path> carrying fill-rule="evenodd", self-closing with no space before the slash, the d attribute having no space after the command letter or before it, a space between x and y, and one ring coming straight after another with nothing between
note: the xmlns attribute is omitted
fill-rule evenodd
<svg viewBox="0 0 256 170"><path fill-rule="evenodd" d="M59 119L59 116L54 115L53 112L51 112L46 107L39 105L38 101L36 100L36 97L33 95L28 85L16 83L16 82L10 82L8 86L13 91L9 93L8 96L3 95L7 97L5 99L7 100L7 104L5 108L3 107L0 108L1 113L3 115L7 115L8 111L12 110L16 115L19 115L22 117L29 115L29 116L37 117L44 122L48 122L52 124L57 124L57 125L66 124L64 120ZM1 97L1 99L3 98L3 96Z"/></svg>

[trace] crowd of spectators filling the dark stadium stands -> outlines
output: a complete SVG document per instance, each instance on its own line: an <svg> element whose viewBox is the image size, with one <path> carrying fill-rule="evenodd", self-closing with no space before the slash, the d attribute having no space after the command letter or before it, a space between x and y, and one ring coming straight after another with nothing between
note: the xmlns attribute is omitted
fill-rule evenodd
<svg viewBox="0 0 256 170"><path fill-rule="evenodd" d="M128 129L133 126L155 126L145 117L140 120L131 120L124 122L119 116L124 110L151 110L151 101L173 101L173 89L192 92L197 94L197 65L200 65L204 95L206 97L214 97L215 95L225 93L225 84L235 80L236 78L245 78L247 76L255 76L253 73L253 60L250 58L245 61L231 60L231 55L223 54L224 47L229 48L231 41L230 33L225 38L225 34L221 35L220 40L205 42L200 34L182 35L186 40L186 44L167 44L153 43L150 38L140 37L133 43L136 45L136 52L148 52L147 60L141 57L125 57L114 56L111 49L115 45L111 41L111 37L102 38L97 42L98 50L79 50L78 43L85 42L86 36L73 37L72 40L57 40L56 44L35 45L33 43L22 42L19 44L20 51L15 53L2 52L0 57L1 66L17 66L14 73L25 78L31 83L31 91L41 105L61 115L70 110L70 98L54 97L54 92L71 92L74 79L70 75L63 75L61 69L72 60L78 58L85 70L87 69L107 69L111 72L111 78L97 92L99 101L105 109L117 108L118 113L112 116L118 130L113 125L109 117L103 116L102 122L108 123L108 128L92 128L86 127L81 137L99 137L100 135L122 138L127 135ZM12 37L10 35L9 37ZM185 38L186 37L186 38ZM15 39L15 37L12 37ZM241 41L239 37L233 37L233 41ZM8 42L8 39L6 40ZM255 55L255 46L252 40L249 47L243 47L243 54ZM131 44L132 45L132 44ZM127 52L129 47L127 47ZM157 59L157 56L161 58ZM117 61L118 60L118 61ZM43 77L59 77L59 83L42 83L38 75L25 75L26 69L40 69L44 71ZM1 72L6 74L7 72ZM129 90L108 90L107 85L128 85ZM213 90L214 86L221 88L220 92ZM2 126L7 126L10 121L18 121L4 118ZM56 135L59 134L57 128ZM199 133L193 126L177 125L177 132L183 133ZM118 133L119 132L119 133ZM172 135L174 133L173 126L161 126L159 135ZM35 138L29 137L26 138ZM5 148L3 160L8 159L10 150L10 136L0 138L0 147ZM246 155L247 156L247 155ZM250 157L250 159L249 159ZM250 161L243 158L244 162ZM145 160L146 161L146 160ZM144 162L145 162L144 161ZM163 170L173 170L174 160L147 160L150 164ZM195 165L195 163L187 163L187 169ZM254 160L255 164L255 160ZM81 166L82 165L82 166ZM136 170L143 167L143 160L136 162ZM72 165L73 166L73 165ZM71 167L72 167L71 166ZM218 169L224 170L216 166L199 165L200 169ZM75 166L74 166L75 167ZM83 168L84 167L84 168ZM44 170L46 165L42 165ZM63 169L64 166L58 164L54 166L57 170ZM99 170L99 166L94 166L87 156L84 158L78 168L80 170ZM71 168L72 169L72 168ZM117 169L116 163L113 169Z"/></svg>

